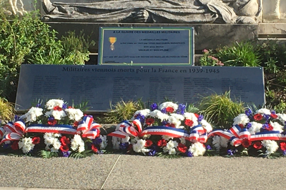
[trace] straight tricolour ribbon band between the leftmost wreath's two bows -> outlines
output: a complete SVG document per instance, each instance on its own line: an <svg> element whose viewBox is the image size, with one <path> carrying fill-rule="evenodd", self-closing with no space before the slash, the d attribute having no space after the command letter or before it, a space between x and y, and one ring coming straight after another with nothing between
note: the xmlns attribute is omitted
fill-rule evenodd
<svg viewBox="0 0 286 190"><path fill-rule="evenodd" d="M26 132L39 132L39 133L60 133L60 134L76 134L77 131L71 125L55 124L53 126L44 124L31 124Z"/></svg>

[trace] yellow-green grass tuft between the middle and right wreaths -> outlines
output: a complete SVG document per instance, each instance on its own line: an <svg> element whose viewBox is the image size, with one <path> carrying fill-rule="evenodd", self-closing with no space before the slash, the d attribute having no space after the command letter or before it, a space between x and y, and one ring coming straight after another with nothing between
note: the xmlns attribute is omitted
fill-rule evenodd
<svg viewBox="0 0 286 190"><path fill-rule="evenodd" d="M232 101L230 93L228 91L221 95L212 94L202 97L198 105L200 113L219 128L229 128L233 123L233 118L244 113L244 103Z"/></svg>

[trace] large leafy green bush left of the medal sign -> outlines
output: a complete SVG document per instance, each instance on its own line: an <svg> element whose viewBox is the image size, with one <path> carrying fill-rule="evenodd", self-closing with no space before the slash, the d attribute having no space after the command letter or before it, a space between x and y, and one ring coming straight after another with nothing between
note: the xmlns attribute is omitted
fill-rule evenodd
<svg viewBox="0 0 286 190"><path fill-rule="evenodd" d="M0 93L11 102L22 63L84 64L89 59L88 47L94 44L74 32L57 40L57 32L33 15L37 12L9 21L0 11Z"/></svg>

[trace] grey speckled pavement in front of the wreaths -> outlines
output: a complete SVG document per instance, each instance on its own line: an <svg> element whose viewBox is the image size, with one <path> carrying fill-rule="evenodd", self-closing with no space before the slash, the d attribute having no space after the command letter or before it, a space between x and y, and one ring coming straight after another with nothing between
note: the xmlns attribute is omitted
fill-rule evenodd
<svg viewBox="0 0 286 190"><path fill-rule="evenodd" d="M0 190L285 189L286 175L285 158L166 159L106 154L78 160L0 156L0 163Z"/></svg>

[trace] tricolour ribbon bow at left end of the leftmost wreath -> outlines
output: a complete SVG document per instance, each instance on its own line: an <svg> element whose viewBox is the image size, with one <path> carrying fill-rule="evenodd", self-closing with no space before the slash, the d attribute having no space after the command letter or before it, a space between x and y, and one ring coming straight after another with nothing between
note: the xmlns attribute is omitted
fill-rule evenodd
<svg viewBox="0 0 286 190"><path fill-rule="evenodd" d="M25 128L26 128L25 123L22 121L16 121L15 123L12 122L7 123L3 127L3 129L9 133L3 137L0 144L2 144L5 141L20 140L20 138L23 136L25 132ZM1 132L3 132L3 130L1 130Z"/></svg>

